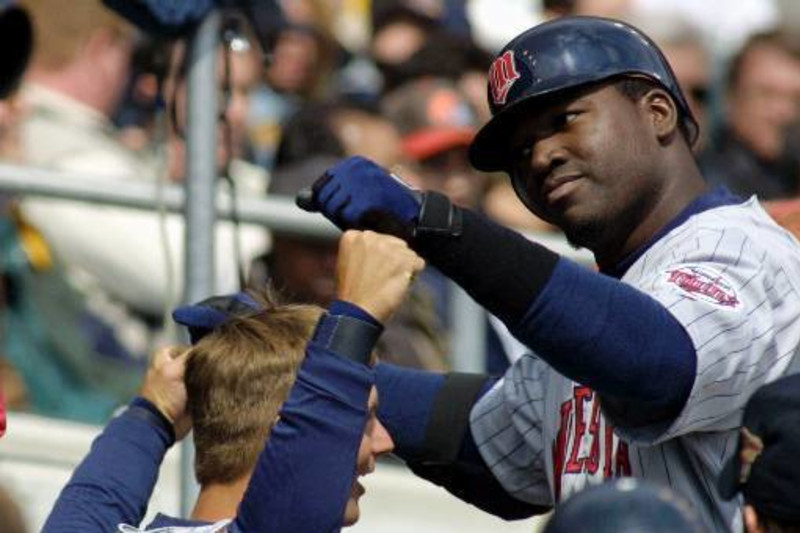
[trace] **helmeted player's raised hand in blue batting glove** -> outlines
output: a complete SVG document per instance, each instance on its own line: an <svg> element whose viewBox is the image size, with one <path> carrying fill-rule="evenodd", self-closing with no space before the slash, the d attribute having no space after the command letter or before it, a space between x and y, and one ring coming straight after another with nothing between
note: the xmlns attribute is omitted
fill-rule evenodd
<svg viewBox="0 0 800 533"><path fill-rule="evenodd" d="M422 193L363 157L329 168L297 204L319 211L342 230L371 229L405 240L413 236Z"/></svg>

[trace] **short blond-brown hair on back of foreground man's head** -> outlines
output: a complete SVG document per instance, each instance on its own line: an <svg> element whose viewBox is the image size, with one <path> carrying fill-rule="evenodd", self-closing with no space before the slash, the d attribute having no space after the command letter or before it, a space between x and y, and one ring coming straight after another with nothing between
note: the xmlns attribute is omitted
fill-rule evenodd
<svg viewBox="0 0 800 533"><path fill-rule="evenodd" d="M184 379L201 485L230 483L255 467L323 313L259 300L263 310L230 319L189 354Z"/></svg>

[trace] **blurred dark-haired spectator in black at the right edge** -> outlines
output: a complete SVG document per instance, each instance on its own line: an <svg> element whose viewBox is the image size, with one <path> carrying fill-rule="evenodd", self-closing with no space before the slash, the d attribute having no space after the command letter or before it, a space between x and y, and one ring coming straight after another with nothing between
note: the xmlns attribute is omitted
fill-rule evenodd
<svg viewBox="0 0 800 533"><path fill-rule="evenodd" d="M725 125L700 155L712 184L761 200L800 192L800 46L781 32L753 36L728 70Z"/></svg>

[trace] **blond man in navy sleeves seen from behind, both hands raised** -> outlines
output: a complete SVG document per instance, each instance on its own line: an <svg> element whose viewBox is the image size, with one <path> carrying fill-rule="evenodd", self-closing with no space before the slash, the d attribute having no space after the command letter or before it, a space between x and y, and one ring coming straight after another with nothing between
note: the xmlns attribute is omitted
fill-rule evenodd
<svg viewBox="0 0 800 533"><path fill-rule="evenodd" d="M150 528L319 533L354 523L358 477L393 448L375 416L372 348L423 267L399 239L348 232L327 312L241 294L176 312L195 346L159 372L185 389L146 387L109 424L44 531L140 531L121 524L141 521L169 433L185 434L189 415L200 495L189 520L158 515Z"/></svg>

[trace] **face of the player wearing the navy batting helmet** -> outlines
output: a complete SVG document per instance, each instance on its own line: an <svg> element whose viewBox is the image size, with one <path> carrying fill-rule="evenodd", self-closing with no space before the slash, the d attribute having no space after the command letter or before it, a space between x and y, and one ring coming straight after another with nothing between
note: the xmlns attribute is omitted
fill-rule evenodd
<svg viewBox="0 0 800 533"><path fill-rule="evenodd" d="M652 172L658 140L642 101L603 85L520 122L513 174L531 211L595 252L641 223L660 187Z"/></svg>

